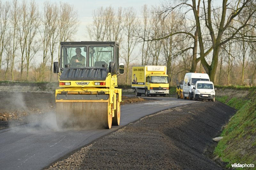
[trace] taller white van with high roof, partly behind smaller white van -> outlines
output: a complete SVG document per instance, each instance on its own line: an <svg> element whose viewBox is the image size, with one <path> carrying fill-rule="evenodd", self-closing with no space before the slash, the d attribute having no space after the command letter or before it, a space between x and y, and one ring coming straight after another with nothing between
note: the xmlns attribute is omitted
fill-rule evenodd
<svg viewBox="0 0 256 170"><path fill-rule="evenodd" d="M197 81L210 81L206 73L186 73L183 81L183 99L189 98L192 100L194 97L194 89Z"/></svg>

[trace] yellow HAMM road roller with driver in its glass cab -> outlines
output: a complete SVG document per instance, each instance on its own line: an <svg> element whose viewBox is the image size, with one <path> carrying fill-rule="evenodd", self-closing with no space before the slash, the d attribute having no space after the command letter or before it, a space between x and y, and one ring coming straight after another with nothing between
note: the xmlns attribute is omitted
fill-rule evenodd
<svg viewBox="0 0 256 170"><path fill-rule="evenodd" d="M55 92L58 127L119 125L122 89L116 87L124 63L119 63L118 43L60 42L60 59L53 69L61 72Z"/></svg>

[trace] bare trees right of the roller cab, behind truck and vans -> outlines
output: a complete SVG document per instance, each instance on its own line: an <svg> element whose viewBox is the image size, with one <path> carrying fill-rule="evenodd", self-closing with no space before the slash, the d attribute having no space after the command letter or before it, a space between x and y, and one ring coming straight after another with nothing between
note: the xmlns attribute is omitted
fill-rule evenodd
<svg viewBox="0 0 256 170"><path fill-rule="evenodd" d="M87 29L93 40L120 42L126 84L130 84L131 63L167 65L172 79L204 71L213 82L243 84L246 68L255 68L255 13L255 0L223 0L222 4L170 0L161 7L144 5L139 15L132 8L101 7L93 13L94 27ZM230 82L230 76L236 77L234 81ZM247 70L246 76L246 81L253 82L255 73Z"/></svg>

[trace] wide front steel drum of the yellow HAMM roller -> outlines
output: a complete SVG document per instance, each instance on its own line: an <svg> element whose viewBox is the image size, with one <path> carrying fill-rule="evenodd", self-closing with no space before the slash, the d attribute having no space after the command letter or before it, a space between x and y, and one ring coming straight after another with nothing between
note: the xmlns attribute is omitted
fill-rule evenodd
<svg viewBox="0 0 256 170"><path fill-rule="evenodd" d="M59 128L107 128L112 125L108 102L57 102L56 122Z"/></svg>

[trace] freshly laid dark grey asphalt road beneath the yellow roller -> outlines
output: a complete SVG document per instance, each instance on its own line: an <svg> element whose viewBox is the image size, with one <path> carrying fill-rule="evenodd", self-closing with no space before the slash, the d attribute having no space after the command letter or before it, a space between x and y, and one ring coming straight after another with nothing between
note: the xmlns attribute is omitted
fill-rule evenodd
<svg viewBox="0 0 256 170"><path fill-rule="evenodd" d="M19 100L37 102L47 99L40 98L31 93L17 94ZM17 96L14 94L15 96ZM39 95L39 94L36 94ZM40 97L40 95L39 95ZM49 96L48 96L49 98ZM31 100L32 99L32 100ZM95 139L102 137L118 128L134 122L139 118L155 112L170 108L195 103L196 101L177 100L174 98L160 98L159 101L121 106L120 126L111 129L58 129L54 113L44 114L44 121L28 123L9 129L0 130L0 169L42 169L53 161L81 148ZM47 101L46 101L47 102ZM49 101L52 104L51 101ZM47 105L45 105L46 107ZM25 109L25 105L22 104ZM42 107L42 106L41 106ZM40 115L42 119L42 115ZM33 118L33 120L36 120Z"/></svg>

